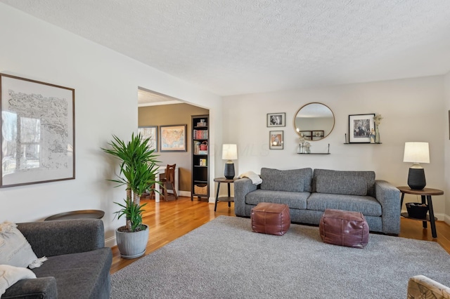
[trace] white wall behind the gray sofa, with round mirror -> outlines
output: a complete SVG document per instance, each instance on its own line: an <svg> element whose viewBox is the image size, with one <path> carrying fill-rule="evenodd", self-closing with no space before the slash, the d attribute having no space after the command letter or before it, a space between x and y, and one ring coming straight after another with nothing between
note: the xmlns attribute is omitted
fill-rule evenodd
<svg viewBox="0 0 450 299"><path fill-rule="evenodd" d="M330 143L330 155L296 154L298 135L293 117L308 102L322 102L333 110L335 128L331 134L324 140L311 142L311 152L326 152ZM403 162L404 142L430 142L431 161L423 164L427 187L444 190L443 135L448 123L443 109L442 76L229 96L224 98L224 142L238 144L235 161L238 173L259 173L263 166L373 170L377 179L395 186L406 185L408 177L410 165ZM266 114L273 112L286 112L285 127L266 127ZM368 113L384 117L380 124L383 144L344 145L349 114ZM269 150L271 130L284 131L284 150ZM439 219L445 213L444 198L445 195L435 197L433 201ZM405 202L416 200L405 197Z"/></svg>

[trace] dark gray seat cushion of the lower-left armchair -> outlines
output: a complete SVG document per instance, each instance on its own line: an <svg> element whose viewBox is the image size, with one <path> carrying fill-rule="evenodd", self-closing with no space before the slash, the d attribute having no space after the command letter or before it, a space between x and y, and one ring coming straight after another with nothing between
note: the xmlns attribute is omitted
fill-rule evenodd
<svg viewBox="0 0 450 299"><path fill-rule="evenodd" d="M37 277L55 277L58 298L103 298L102 290L109 284L112 261L111 248L105 247L51 256L32 271Z"/></svg>

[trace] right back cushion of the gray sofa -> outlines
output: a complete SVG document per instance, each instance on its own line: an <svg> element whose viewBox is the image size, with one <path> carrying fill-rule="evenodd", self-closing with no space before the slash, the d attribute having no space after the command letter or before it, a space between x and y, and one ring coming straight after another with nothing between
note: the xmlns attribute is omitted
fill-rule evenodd
<svg viewBox="0 0 450 299"><path fill-rule="evenodd" d="M317 175L316 192L364 196L367 195L367 182L362 176Z"/></svg>

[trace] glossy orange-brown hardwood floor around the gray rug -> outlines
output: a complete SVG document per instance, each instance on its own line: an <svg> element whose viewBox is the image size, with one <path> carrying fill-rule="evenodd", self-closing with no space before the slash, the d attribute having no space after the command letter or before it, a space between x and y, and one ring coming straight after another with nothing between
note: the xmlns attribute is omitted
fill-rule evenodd
<svg viewBox="0 0 450 299"><path fill-rule="evenodd" d="M154 199L146 199L143 202L148 202L143 222L150 227L146 255L204 225L219 215L234 216L233 203L231 203L231 208L229 208L226 202L219 202L217 211L214 213L214 204L198 201L197 199L191 201L191 197L179 197L177 200L161 201L160 203L155 203ZM450 253L450 226L443 221L438 221L436 230L437 238L433 239L430 223L428 223L428 229L423 229L422 222L401 218L401 233L399 237L437 241ZM114 246L113 265L111 265L110 272L117 272L136 260L120 258L117 246Z"/></svg>

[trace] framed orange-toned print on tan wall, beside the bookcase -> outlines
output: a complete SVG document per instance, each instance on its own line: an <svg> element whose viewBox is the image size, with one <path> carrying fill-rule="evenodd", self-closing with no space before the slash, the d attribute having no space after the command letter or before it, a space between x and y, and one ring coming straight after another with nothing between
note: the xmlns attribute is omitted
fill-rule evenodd
<svg viewBox="0 0 450 299"><path fill-rule="evenodd" d="M160 126L161 152L187 152L186 127Z"/></svg>

